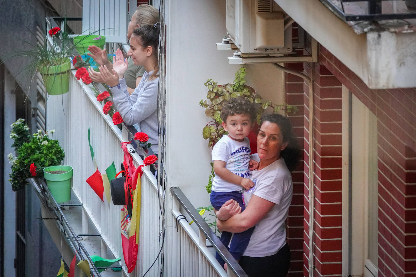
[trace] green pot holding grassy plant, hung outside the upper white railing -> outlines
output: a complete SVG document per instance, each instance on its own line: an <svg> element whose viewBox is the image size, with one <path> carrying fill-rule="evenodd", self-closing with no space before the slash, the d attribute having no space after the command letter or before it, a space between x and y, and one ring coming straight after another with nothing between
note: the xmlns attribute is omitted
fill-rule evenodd
<svg viewBox="0 0 416 277"><path fill-rule="evenodd" d="M61 65L38 68L49 95L61 95L69 91L69 69L71 69L70 59Z"/></svg>

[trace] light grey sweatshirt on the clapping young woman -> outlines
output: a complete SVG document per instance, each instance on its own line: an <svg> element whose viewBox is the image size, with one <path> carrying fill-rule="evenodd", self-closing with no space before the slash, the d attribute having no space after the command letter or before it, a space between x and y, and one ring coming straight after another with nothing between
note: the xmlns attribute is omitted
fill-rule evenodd
<svg viewBox="0 0 416 277"><path fill-rule="evenodd" d="M157 93L159 77L148 80L151 72L145 72L139 86L129 95L126 80L120 79L120 86L111 88L113 102L123 121L127 125L139 124L140 131L149 135L152 150L158 149L158 120L157 120Z"/></svg>

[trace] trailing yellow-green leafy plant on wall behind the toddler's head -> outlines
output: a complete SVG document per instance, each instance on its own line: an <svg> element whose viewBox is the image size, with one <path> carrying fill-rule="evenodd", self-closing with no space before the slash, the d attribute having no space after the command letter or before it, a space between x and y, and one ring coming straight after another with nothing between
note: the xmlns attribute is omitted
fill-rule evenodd
<svg viewBox="0 0 416 277"><path fill-rule="evenodd" d="M244 97L251 103L258 104L256 121L260 124L261 114L267 109L272 108L273 112L277 113L279 110L285 110L287 113L296 113L297 107L292 105L274 105L271 101L263 101L262 97L256 94L254 88L245 84L245 68L241 67L235 73L235 80L233 83L225 85L218 85L212 79L208 79L204 85L209 89L207 93L207 100L201 100L199 105L205 108L205 115L213 120L208 122L202 129L202 136L208 140L208 147L213 147L216 142L227 132L225 132L221 123L223 120L220 117L221 107L225 101L230 98Z"/></svg>

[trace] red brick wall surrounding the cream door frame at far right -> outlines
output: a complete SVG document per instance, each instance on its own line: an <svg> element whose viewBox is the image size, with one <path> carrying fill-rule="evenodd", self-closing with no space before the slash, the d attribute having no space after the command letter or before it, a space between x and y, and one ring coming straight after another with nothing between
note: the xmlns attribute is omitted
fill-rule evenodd
<svg viewBox="0 0 416 277"><path fill-rule="evenodd" d="M314 78L316 274L340 274L341 83L377 117L379 181L379 276L416 276L416 89L369 89L324 47L319 64L307 66ZM333 75L332 75L333 74ZM307 88L305 88L307 103ZM305 126L307 126L305 105ZM305 127L305 137L307 137ZM305 148L307 148L305 139ZM305 152L305 161L307 153ZM305 162L305 172L307 172ZM305 183L307 176L305 175ZM305 194L307 188L305 189ZM305 255L307 218L305 198ZM336 250L325 255L327 250ZM306 260L307 266L307 260ZM413 273L408 273L413 272ZM307 272L305 271L305 274Z"/></svg>

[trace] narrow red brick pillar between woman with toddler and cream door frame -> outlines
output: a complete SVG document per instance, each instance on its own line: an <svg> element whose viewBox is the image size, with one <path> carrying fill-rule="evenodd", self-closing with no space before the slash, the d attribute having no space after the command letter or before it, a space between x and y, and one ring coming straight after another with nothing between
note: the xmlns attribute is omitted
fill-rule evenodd
<svg viewBox="0 0 416 277"><path fill-rule="evenodd" d="M342 84L324 66L305 63L314 89L314 275L342 273ZM309 91L304 86L304 275L309 274Z"/></svg>

